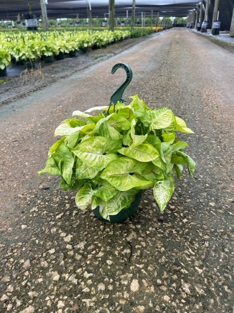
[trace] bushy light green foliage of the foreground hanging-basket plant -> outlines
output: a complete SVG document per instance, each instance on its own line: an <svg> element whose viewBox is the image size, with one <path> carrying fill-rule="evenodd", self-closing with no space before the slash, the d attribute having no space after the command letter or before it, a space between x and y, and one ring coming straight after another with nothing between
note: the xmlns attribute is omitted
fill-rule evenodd
<svg viewBox="0 0 234 313"><path fill-rule="evenodd" d="M104 219L151 187L162 212L174 192L174 174L180 179L183 165L191 177L195 171L194 160L183 152L188 143L176 136L176 131L193 134L185 121L168 108L153 110L137 95L131 98L129 105L73 112L56 129L61 137L39 172L59 175L64 190L78 189L81 210L99 205Z"/></svg>

